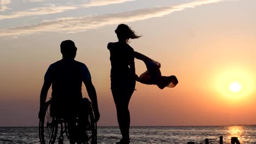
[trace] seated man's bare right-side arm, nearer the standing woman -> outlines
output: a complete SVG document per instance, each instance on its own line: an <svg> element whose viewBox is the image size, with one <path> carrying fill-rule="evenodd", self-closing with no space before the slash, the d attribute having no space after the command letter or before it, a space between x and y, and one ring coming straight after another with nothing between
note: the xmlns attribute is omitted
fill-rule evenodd
<svg viewBox="0 0 256 144"><path fill-rule="evenodd" d="M98 101L95 87L94 85L92 85L91 80L84 81L84 85L92 102L92 105L94 106L95 121L97 122L98 119L100 119L100 112L98 111Z"/></svg>

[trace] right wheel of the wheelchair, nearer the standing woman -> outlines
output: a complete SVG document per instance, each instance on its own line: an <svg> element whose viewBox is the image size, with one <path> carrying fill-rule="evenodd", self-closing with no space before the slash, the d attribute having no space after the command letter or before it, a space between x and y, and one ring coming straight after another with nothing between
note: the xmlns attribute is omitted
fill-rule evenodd
<svg viewBox="0 0 256 144"><path fill-rule="evenodd" d="M87 143L97 143L97 123L94 119L94 110L92 104L89 102L89 115L88 115L88 124L86 128L86 134L88 136Z"/></svg>

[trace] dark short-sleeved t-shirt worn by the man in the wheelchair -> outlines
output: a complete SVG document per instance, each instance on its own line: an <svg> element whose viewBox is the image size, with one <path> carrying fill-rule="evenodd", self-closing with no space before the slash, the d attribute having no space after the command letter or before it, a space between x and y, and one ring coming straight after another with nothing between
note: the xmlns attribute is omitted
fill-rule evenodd
<svg viewBox="0 0 256 144"><path fill-rule="evenodd" d="M52 83L52 99L56 105L73 106L82 98L82 82L91 80L84 63L61 59L50 65L44 81Z"/></svg>

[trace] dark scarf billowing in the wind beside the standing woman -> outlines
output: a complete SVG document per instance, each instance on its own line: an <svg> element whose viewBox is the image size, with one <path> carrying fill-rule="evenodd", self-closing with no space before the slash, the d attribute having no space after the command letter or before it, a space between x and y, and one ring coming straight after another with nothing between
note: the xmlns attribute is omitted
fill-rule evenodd
<svg viewBox="0 0 256 144"><path fill-rule="evenodd" d="M138 81L147 85L157 85L160 89L165 87L175 87L178 84L176 76L162 76L159 62L142 55L139 52L134 52L134 56L146 64L147 70L138 77Z"/></svg>

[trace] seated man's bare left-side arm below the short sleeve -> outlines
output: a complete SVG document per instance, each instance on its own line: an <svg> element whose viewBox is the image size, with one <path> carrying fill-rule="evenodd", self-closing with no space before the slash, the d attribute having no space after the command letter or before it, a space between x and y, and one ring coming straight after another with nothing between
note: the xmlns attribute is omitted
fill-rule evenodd
<svg viewBox="0 0 256 144"><path fill-rule="evenodd" d="M41 93L40 93L40 110L39 110L39 114L38 114L39 119L41 118L42 110L44 108L45 100L46 100L47 93L48 93L50 87L51 87L51 83L44 81L44 85L43 85Z"/></svg>

